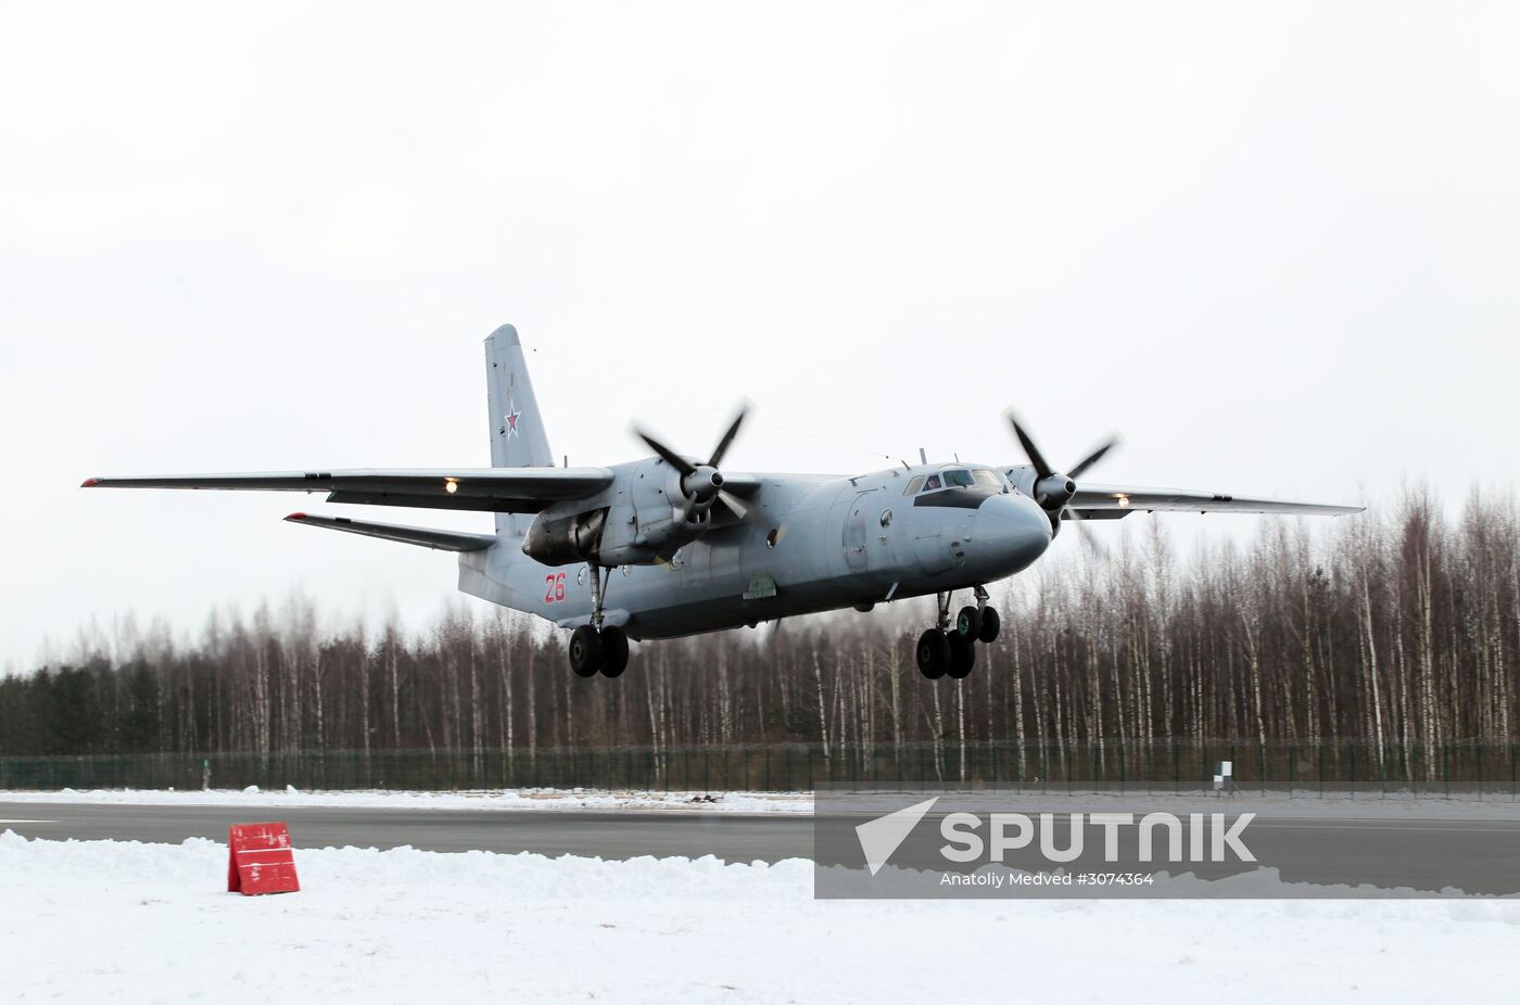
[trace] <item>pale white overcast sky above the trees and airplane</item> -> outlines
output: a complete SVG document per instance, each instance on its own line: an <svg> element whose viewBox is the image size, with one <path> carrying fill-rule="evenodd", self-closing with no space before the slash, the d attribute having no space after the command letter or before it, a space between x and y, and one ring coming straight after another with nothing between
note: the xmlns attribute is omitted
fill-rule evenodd
<svg viewBox="0 0 1520 1005"><path fill-rule="evenodd" d="M1120 430L1105 482L1511 487L1517 29L1505 3L5 3L0 664L292 588L436 614L451 556L280 522L357 508L76 487L485 465L503 321L572 464L637 456L631 417L702 453L748 397L731 468L1014 461L1015 406L1061 464Z"/></svg>

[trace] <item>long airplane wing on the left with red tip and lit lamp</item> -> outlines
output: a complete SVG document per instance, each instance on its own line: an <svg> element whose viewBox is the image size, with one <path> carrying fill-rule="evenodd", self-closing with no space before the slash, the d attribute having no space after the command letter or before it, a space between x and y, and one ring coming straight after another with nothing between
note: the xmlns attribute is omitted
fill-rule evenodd
<svg viewBox="0 0 1520 1005"><path fill-rule="evenodd" d="M351 468L347 471L258 471L249 474L164 474L91 477L82 488L220 488L328 493L327 502L483 512L538 512L593 496L613 483L606 468Z"/></svg>

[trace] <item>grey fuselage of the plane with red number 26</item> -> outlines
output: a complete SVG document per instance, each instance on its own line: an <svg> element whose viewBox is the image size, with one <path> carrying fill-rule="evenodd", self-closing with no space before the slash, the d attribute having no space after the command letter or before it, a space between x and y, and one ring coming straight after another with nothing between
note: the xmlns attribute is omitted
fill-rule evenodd
<svg viewBox="0 0 1520 1005"><path fill-rule="evenodd" d="M660 459L614 465L603 502L629 532L678 520L663 497L637 506L638 491L673 477ZM980 470L1000 485L904 494L915 476ZM669 639L778 617L970 588L1011 576L1050 544L1052 523L1015 483L1020 468L933 464L857 477L762 476L746 502L780 526L714 523L658 564L619 564L606 579L606 623L634 639ZM1012 482L1006 480L1012 476ZM918 479L920 482L923 479ZM568 511L584 511L585 500ZM540 514L552 520L553 508ZM614 534L610 525L603 540ZM774 538L774 546L769 540ZM523 553L523 538L459 555L459 588L559 626L591 619L588 563L547 566ZM603 564L605 563L603 558Z"/></svg>

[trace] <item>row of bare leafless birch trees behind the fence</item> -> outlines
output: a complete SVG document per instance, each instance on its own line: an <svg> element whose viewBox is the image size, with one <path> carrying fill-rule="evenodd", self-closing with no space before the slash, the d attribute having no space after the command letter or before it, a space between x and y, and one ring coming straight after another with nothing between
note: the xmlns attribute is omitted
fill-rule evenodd
<svg viewBox="0 0 1520 1005"><path fill-rule="evenodd" d="M1176 517L1173 517L1176 520ZM961 681L914 663L923 602L634 646L619 680L564 639L453 607L426 631L319 628L290 599L193 640L122 629L0 680L0 754L293 753L1006 742L1134 745L1515 737L1520 512L1429 490L1328 525L1262 522L1178 549L1131 517L1105 552L1062 535L994 590L1002 637ZM1186 552L1186 553L1184 553Z"/></svg>

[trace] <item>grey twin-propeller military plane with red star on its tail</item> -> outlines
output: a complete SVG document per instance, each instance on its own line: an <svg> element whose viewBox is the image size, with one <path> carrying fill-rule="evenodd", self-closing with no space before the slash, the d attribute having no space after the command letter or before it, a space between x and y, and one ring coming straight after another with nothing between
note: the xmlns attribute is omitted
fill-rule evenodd
<svg viewBox="0 0 1520 1005"><path fill-rule="evenodd" d="M1012 423L1028 464L929 464L833 474L722 470L745 414L707 459L648 433L654 456L555 467L517 328L485 341L489 468L331 470L91 477L87 488L322 491L331 503L476 509L496 534L459 534L293 512L286 520L459 553L459 588L570 628L581 677L619 677L629 639L754 626L795 614L936 594L918 640L929 678L965 677L997 639L986 584L1040 558L1062 520L1135 511L1351 514L1360 506L1249 499L1082 479L1113 441L1056 471ZM974 599L950 617L950 599Z"/></svg>

